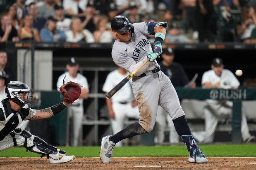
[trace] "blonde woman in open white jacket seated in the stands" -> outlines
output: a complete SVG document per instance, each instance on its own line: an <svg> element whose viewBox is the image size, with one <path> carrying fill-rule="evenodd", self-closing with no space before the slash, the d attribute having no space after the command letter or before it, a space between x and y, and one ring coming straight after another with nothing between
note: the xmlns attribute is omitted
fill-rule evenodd
<svg viewBox="0 0 256 170"><path fill-rule="evenodd" d="M69 28L70 30L65 33L67 36L66 42L95 42L93 34L82 28L79 18L72 19Z"/></svg>

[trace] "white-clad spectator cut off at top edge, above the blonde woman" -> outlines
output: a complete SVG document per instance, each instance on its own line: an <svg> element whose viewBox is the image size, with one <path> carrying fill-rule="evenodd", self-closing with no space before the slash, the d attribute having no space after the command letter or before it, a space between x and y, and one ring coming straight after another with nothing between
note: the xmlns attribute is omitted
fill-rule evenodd
<svg viewBox="0 0 256 170"><path fill-rule="evenodd" d="M63 0L65 14L69 16L84 17L87 0Z"/></svg>

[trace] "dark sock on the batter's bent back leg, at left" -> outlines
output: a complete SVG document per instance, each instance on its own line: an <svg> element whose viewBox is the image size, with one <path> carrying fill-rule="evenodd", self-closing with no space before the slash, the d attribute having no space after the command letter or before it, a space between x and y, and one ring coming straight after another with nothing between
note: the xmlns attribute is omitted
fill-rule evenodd
<svg viewBox="0 0 256 170"><path fill-rule="evenodd" d="M115 135L110 136L109 140L114 143L117 143L128 137L133 137L135 135L140 135L144 133L148 133L148 132L144 128L142 128L139 122L135 122L135 123L129 124L126 128L116 133Z"/></svg>

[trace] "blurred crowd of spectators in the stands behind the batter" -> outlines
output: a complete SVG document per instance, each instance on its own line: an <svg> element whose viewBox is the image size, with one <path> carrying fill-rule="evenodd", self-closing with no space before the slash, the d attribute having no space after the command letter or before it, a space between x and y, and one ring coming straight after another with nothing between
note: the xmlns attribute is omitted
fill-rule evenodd
<svg viewBox="0 0 256 170"><path fill-rule="evenodd" d="M8 0L0 42L115 40L110 20L165 21L166 43L256 42L256 0Z"/></svg>

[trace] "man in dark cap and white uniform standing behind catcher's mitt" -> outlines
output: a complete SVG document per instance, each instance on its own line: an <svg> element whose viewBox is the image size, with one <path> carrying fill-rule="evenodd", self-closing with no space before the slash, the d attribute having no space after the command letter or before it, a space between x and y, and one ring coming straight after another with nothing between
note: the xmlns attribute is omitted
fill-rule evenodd
<svg viewBox="0 0 256 170"><path fill-rule="evenodd" d="M81 94L79 98L72 104L69 105L70 107L67 108L68 124L70 124L70 145L71 146L78 146L79 145L79 137L81 135L82 130L82 122L84 119L84 99L88 98L89 93L89 86L86 77L78 72L79 70L79 63L77 62L76 58L71 57L67 61L66 64L67 72L60 75L57 81L57 90L65 82L76 82L81 85ZM68 126L69 128L69 126ZM69 135L69 134L68 134Z"/></svg>

